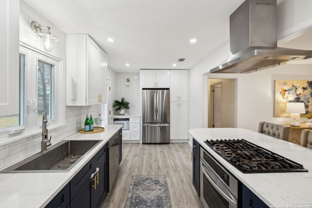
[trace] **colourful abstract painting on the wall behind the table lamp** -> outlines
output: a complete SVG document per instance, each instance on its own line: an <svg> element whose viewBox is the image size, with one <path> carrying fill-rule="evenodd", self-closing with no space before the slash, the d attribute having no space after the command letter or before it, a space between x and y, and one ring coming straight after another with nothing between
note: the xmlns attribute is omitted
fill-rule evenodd
<svg viewBox="0 0 312 208"><path fill-rule="evenodd" d="M306 113L312 112L312 80L274 80L274 117L290 116L288 102L304 102Z"/></svg>

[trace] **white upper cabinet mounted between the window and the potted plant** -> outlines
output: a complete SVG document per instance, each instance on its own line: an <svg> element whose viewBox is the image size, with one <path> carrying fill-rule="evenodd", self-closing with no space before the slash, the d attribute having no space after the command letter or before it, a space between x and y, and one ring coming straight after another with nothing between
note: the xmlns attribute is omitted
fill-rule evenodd
<svg viewBox="0 0 312 208"><path fill-rule="evenodd" d="M66 105L106 103L107 54L85 34L66 35Z"/></svg>

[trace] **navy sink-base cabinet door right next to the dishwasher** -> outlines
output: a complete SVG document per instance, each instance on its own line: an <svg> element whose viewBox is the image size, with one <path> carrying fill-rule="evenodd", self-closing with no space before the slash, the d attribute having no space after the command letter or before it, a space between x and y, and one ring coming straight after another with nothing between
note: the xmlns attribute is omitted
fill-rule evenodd
<svg viewBox="0 0 312 208"><path fill-rule="evenodd" d="M94 205L99 208L107 193L107 146L105 145L94 156L95 169L98 167L97 185L94 190Z"/></svg>

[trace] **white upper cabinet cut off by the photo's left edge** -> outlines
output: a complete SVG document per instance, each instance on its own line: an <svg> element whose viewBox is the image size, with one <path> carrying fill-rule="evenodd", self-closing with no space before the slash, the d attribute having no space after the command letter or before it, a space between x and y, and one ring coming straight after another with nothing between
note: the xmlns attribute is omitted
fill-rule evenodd
<svg viewBox="0 0 312 208"><path fill-rule="evenodd" d="M0 116L19 113L20 104L20 1L2 0L0 41Z"/></svg>

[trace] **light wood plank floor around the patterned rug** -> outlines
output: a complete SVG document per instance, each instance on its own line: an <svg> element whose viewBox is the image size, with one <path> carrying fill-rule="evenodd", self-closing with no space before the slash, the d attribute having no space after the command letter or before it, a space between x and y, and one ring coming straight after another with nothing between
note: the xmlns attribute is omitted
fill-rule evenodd
<svg viewBox="0 0 312 208"><path fill-rule="evenodd" d="M192 182L191 151L187 143L123 143L116 185L101 208L125 207L132 175L166 175L173 208L203 208Z"/></svg>

